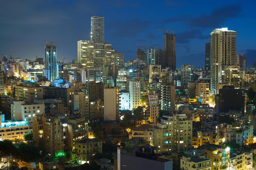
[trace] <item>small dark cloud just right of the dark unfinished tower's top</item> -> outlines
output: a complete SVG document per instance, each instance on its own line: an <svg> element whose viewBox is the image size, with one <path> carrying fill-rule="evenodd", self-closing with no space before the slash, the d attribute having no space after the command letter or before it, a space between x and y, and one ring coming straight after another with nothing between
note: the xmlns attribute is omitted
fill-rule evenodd
<svg viewBox="0 0 256 170"><path fill-rule="evenodd" d="M207 36L203 35L202 31L199 29L193 29L185 32L180 32L176 34L176 43L187 44L191 39L206 39Z"/></svg>

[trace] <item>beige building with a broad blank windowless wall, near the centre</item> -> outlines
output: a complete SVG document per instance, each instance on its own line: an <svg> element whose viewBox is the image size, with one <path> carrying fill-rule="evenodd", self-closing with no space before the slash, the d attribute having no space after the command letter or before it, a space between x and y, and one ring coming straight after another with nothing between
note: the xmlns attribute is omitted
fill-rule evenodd
<svg viewBox="0 0 256 170"><path fill-rule="evenodd" d="M119 89L118 87L104 88L104 121L119 119Z"/></svg>

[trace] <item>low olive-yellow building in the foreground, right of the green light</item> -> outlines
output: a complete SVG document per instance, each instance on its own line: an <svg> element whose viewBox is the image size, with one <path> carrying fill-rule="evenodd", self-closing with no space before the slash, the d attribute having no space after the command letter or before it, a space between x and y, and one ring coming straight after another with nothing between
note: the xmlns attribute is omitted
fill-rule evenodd
<svg viewBox="0 0 256 170"><path fill-rule="evenodd" d="M102 142L96 138L76 141L75 152L79 164L90 163L96 153L102 153Z"/></svg>

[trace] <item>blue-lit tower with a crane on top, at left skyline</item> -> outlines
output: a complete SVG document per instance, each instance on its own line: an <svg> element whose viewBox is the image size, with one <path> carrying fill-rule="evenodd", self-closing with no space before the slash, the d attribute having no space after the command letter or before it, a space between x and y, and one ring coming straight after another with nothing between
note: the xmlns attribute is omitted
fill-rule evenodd
<svg viewBox="0 0 256 170"><path fill-rule="evenodd" d="M50 81L57 79L59 76L59 70L57 67L57 54L56 54L56 46L52 45L45 45L45 62L44 68L50 70Z"/></svg>

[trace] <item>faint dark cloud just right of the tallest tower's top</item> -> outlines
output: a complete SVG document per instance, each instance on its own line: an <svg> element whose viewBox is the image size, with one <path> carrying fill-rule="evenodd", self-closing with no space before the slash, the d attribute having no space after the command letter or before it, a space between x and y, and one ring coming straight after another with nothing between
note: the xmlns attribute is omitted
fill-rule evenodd
<svg viewBox="0 0 256 170"><path fill-rule="evenodd" d="M113 29L114 37L135 37L147 29L150 21L130 19L127 21L116 21L107 25L107 29Z"/></svg>

